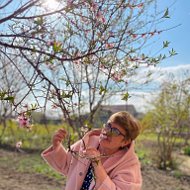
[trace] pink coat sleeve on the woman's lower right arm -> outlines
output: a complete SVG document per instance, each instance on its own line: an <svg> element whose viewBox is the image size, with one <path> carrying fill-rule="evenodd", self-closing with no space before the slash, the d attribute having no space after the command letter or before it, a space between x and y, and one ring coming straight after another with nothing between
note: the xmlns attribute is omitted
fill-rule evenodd
<svg viewBox="0 0 190 190"><path fill-rule="evenodd" d="M141 172L138 167L131 171L120 171L113 178L109 176L96 190L140 190L142 186Z"/></svg>

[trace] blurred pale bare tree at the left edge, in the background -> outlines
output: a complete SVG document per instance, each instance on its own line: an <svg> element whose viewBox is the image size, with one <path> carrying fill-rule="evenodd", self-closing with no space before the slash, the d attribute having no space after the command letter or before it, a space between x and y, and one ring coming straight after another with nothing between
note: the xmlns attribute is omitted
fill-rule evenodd
<svg viewBox="0 0 190 190"><path fill-rule="evenodd" d="M17 59L14 57L14 59ZM23 65L17 63L17 67L22 70L22 72L28 72L28 68L21 69ZM3 136L6 127L7 120L11 120L15 117L15 106L14 99L20 100L24 98L26 90L26 82L19 74L18 70L15 70L11 64L11 60L7 59L6 56L0 56L0 124L3 126L2 133L0 134L0 139ZM22 97L22 98L20 98Z"/></svg>

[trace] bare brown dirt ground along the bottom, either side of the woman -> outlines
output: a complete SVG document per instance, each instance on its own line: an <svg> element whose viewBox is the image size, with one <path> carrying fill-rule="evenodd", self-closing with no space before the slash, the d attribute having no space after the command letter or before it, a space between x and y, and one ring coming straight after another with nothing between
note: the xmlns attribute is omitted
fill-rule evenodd
<svg viewBox="0 0 190 190"><path fill-rule="evenodd" d="M0 152L2 153L2 150ZM180 175L180 178L176 178L172 175L172 172L164 172L153 166L143 166L142 190L189 190L190 170L186 172L189 172L189 175L186 173L185 175ZM61 189L63 189L62 184L40 174L18 173L13 168L9 169L7 166L0 167L0 190Z"/></svg>

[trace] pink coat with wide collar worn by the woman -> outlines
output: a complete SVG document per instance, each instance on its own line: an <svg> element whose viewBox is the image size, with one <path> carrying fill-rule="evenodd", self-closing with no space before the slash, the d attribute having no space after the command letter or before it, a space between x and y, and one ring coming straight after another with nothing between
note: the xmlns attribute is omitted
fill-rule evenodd
<svg viewBox="0 0 190 190"><path fill-rule="evenodd" d="M85 135L83 138L88 147L96 147L99 144L99 136ZM72 150L83 151L82 141L72 145ZM56 171L67 176L65 190L80 190L86 172L90 165L89 160L74 158L63 146L53 150L52 146L42 152L42 157ZM107 172L107 178L99 186L98 190L140 190L142 185L140 163L134 152L134 142L128 151L120 150L109 157L103 166ZM92 190L95 182L92 181Z"/></svg>

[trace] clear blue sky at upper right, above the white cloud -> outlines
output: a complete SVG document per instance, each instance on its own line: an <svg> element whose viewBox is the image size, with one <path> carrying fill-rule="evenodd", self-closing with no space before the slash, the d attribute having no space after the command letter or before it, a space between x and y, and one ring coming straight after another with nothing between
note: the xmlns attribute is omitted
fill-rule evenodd
<svg viewBox="0 0 190 190"><path fill-rule="evenodd" d="M160 0L161 7L172 4L174 0ZM171 19L167 23L170 26L181 24L162 34L162 39L171 42L171 46L178 52L175 57L164 61L161 66L175 66L190 64L190 0L177 0L169 11Z"/></svg>

